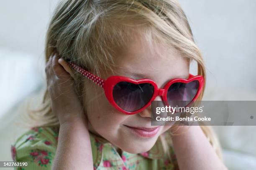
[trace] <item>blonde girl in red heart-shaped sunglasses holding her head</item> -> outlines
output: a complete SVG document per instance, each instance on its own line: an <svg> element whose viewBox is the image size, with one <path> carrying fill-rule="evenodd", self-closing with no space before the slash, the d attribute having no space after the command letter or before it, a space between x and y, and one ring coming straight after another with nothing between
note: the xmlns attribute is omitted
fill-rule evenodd
<svg viewBox="0 0 256 170"><path fill-rule="evenodd" d="M12 146L13 159L28 162L20 169L226 169L209 127L151 126L150 101L203 95L199 81L172 83L205 78L176 0L62 0L46 61L43 106L31 113L40 121Z"/></svg>

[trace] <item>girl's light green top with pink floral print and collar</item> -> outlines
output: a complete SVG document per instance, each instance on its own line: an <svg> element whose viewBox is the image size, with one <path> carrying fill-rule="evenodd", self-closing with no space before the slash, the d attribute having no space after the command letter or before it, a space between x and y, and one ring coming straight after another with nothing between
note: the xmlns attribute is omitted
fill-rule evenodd
<svg viewBox="0 0 256 170"><path fill-rule="evenodd" d="M28 162L28 166L15 169L51 170L58 131L57 127L34 127L21 135L11 146L12 157L14 161ZM171 138L167 134L164 137L170 145L170 157L164 153L160 138L148 152L123 151L120 156L110 142L90 133L94 170L178 170Z"/></svg>

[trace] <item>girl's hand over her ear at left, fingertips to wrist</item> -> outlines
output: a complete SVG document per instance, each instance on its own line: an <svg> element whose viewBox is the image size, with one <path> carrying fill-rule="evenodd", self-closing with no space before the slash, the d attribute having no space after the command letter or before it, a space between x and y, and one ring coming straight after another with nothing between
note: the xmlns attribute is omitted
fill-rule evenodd
<svg viewBox="0 0 256 170"><path fill-rule="evenodd" d="M74 91L72 70L66 61L56 55L51 56L46 63L45 72L52 112L59 119L60 124L86 119L81 101Z"/></svg>

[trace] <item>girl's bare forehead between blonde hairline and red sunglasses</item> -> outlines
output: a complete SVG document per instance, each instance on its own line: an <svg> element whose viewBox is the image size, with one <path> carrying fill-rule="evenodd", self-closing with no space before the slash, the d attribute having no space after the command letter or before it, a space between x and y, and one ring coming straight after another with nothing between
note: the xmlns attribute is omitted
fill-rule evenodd
<svg viewBox="0 0 256 170"><path fill-rule="evenodd" d="M172 46L156 41L148 43L142 34L133 34L128 43L115 48L114 75L134 78L152 78L168 72L169 76L184 76L187 73L187 59ZM177 74L180 73L180 74Z"/></svg>

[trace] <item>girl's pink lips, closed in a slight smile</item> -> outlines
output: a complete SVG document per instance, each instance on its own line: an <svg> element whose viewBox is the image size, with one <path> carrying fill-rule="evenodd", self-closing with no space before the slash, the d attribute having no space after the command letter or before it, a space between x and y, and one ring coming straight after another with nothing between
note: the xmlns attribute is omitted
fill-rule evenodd
<svg viewBox="0 0 256 170"><path fill-rule="evenodd" d="M136 134L142 137L153 137L158 132L160 126L154 127L154 128L146 128L146 127L130 127L125 125L125 127L128 127L133 132L135 132Z"/></svg>

